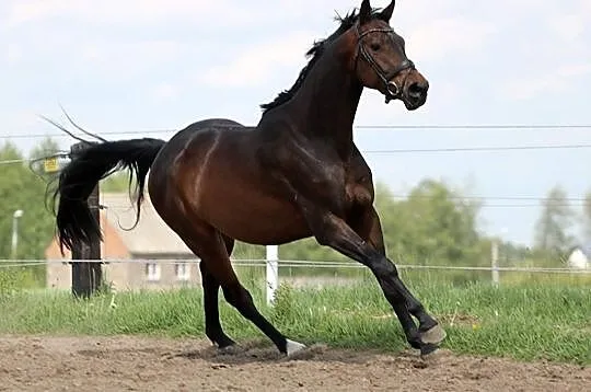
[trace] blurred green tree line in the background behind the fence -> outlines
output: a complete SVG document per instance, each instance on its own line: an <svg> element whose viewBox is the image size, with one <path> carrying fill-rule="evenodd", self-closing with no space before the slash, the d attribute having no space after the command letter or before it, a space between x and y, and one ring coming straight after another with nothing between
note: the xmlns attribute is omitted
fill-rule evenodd
<svg viewBox="0 0 591 392"><path fill-rule="evenodd" d="M44 252L55 233L53 214L46 204L47 182L43 162L28 162L55 153L58 145L47 138L27 154L14 143L0 146L0 258L44 258ZM25 162L19 162L25 161ZM103 192L127 192L128 174L117 173L101 183ZM389 256L396 263L429 265L483 266L490 263L491 238L480 232L477 221L482 205L464 197L461 189L432 178L425 178L406 196L395 197L385 184L376 184L375 206L382 221ZM591 192L582 208L569 204L559 185L548 191L541 201L542 212L535 224L531 249L512 243L500 244L501 264L529 260L540 265L557 266L576 243L591 240ZM22 209L19 219L19 246L12 254L13 214ZM576 223L582 232L572 233ZM239 243L236 258L262 258L263 246ZM279 247L281 260L346 261L339 253L306 239ZM39 278L43 272L39 272Z"/></svg>

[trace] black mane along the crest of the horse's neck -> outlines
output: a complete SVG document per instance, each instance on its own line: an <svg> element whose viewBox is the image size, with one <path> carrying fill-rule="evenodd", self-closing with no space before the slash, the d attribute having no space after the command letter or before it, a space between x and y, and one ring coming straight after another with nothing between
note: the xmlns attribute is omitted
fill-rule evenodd
<svg viewBox="0 0 591 392"><path fill-rule="evenodd" d="M380 9L373 9L372 15L375 15L378 11L380 11ZM359 14L357 13L356 10L354 10L351 13L345 15L345 18L341 18L339 15L335 18L336 21L340 22L340 25L338 26L338 28L333 34L331 34L327 38L314 42L310 50L308 50L305 54L305 57L312 56L312 58L308 61L305 67L302 68L302 70L300 71L300 74L298 76L296 83L293 83L293 85L289 90L281 91L273 102L262 104L260 108L263 108L263 113L266 113L267 111L270 111L274 107L280 106L293 97L293 95L298 92L298 90L302 85L305 77L308 77L308 74L310 73L310 71L312 70L312 68L318 60L318 58L324 53L324 48L326 47L326 45L331 44L333 41L338 38L343 33L349 30L355 24L358 16Z"/></svg>

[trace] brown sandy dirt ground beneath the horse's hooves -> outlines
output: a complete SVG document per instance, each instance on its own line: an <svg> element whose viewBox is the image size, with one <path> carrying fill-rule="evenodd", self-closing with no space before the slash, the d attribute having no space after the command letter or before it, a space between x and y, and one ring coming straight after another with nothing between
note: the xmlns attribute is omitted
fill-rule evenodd
<svg viewBox="0 0 591 392"><path fill-rule="evenodd" d="M583 391L591 367L455 356L424 360L312 346L292 359L267 343L232 354L208 342L0 337L0 391Z"/></svg>

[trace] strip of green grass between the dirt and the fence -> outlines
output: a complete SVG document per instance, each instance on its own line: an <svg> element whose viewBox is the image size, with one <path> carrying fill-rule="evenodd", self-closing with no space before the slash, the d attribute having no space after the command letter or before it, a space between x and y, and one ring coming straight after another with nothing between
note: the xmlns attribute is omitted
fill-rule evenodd
<svg viewBox="0 0 591 392"><path fill-rule="evenodd" d="M289 337L346 348L406 348L373 279L348 287L278 291L264 304L262 285L245 279L262 312ZM487 284L462 287L422 279L413 290L448 332L456 353L591 365L591 287ZM112 303L115 303L113 307ZM223 299L222 325L237 338L263 336ZM0 293L0 334L147 334L204 336L199 289L104 293L89 301L69 292Z"/></svg>

